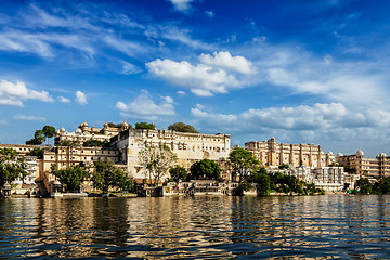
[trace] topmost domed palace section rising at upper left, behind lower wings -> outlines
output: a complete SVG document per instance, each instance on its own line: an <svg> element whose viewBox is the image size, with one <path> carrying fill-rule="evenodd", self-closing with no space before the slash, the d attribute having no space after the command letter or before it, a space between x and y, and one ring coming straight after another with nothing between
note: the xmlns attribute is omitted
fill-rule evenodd
<svg viewBox="0 0 390 260"><path fill-rule="evenodd" d="M110 138L117 135L119 132L129 129L129 123L126 121L120 128L109 127L107 122L103 125L103 128L99 129L93 127L88 127L87 122L82 122L76 130L76 132L67 132L64 128L57 130L55 134L55 144L61 144L62 141L68 140L77 142L82 145L83 142L88 140L98 140L98 141L109 141Z"/></svg>

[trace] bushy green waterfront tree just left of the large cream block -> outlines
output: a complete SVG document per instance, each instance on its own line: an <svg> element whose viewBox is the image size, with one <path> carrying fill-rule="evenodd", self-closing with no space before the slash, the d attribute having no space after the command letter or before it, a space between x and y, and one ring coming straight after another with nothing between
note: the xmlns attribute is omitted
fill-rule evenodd
<svg viewBox="0 0 390 260"><path fill-rule="evenodd" d="M94 170L91 176L93 186L107 194L109 188L126 190L129 187L131 181L129 177L114 162L105 159L94 161Z"/></svg>

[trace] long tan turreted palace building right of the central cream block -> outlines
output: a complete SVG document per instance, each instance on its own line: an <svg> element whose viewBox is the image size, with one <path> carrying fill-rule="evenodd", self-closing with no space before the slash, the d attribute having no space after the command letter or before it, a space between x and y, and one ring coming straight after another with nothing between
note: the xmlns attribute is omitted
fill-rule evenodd
<svg viewBox="0 0 390 260"><path fill-rule="evenodd" d="M275 138L245 143L245 148L252 152L263 166L325 167L335 161L334 154L324 154L320 145L276 143Z"/></svg>

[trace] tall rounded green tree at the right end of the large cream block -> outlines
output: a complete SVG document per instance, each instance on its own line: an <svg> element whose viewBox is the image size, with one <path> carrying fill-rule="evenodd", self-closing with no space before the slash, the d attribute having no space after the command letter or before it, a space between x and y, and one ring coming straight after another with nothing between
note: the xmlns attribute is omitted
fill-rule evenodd
<svg viewBox="0 0 390 260"><path fill-rule="evenodd" d="M227 157L227 164L232 168L232 176L238 176L239 182L248 180L249 176L257 170L259 161L252 152L244 148L233 150Z"/></svg>

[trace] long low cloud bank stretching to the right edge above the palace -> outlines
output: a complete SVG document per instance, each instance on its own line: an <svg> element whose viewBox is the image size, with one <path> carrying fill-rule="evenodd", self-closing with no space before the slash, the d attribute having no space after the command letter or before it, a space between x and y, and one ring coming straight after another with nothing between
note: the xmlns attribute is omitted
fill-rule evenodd
<svg viewBox="0 0 390 260"><path fill-rule="evenodd" d="M242 114L213 114L205 110L204 106L191 109L194 117L207 126L239 126L235 131L286 130L286 131L330 131L353 128L388 128L390 127L390 112L368 109L355 113L341 103L321 104L311 106L269 107L263 109L248 109Z"/></svg>

